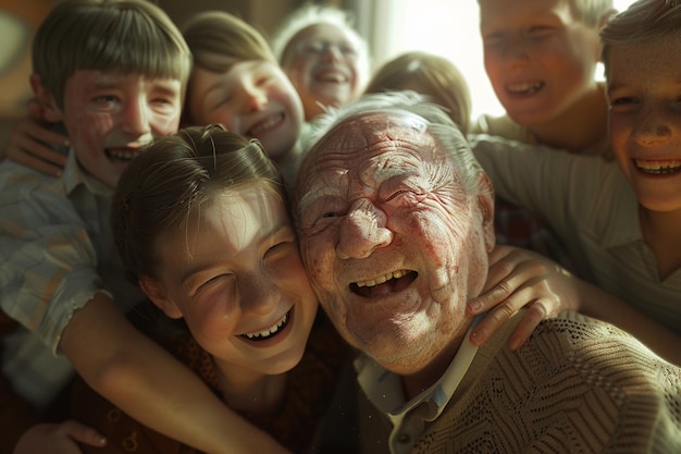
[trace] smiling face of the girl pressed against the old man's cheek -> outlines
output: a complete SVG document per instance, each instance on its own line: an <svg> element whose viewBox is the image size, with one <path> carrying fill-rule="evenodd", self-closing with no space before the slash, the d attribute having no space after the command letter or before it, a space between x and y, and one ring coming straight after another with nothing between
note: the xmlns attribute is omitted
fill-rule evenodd
<svg viewBox="0 0 681 454"><path fill-rule="evenodd" d="M216 195L161 235L151 299L183 317L227 377L298 364L317 312L285 204L262 185Z"/></svg>

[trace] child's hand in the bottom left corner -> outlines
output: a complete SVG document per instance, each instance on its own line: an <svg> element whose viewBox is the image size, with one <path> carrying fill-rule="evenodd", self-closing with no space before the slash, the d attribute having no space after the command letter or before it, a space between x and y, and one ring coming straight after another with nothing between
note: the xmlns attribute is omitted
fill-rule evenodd
<svg viewBox="0 0 681 454"><path fill-rule="evenodd" d="M13 454L82 454L78 443L101 447L107 444L107 439L73 419L60 424L39 424L24 432Z"/></svg>

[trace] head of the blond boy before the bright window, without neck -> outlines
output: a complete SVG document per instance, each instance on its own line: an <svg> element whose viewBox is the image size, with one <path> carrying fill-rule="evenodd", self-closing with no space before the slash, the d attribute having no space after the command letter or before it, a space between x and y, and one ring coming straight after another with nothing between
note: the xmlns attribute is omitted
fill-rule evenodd
<svg viewBox="0 0 681 454"><path fill-rule="evenodd" d="M552 121L597 87L598 30L612 0L479 0L484 64L519 124Z"/></svg>

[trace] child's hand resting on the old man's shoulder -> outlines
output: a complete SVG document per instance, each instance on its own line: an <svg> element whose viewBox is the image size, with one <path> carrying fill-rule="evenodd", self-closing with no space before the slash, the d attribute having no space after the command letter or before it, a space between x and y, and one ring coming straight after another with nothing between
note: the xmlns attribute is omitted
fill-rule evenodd
<svg viewBox="0 0 681 454"><path fill-rule="evenodd" d="M510 316L527 306L528 311L508 343L509 348L519 348L543 319L579 309L575 281L567 270L540 254L496 246L490 254L490 273L482 293L468 302L467 311L471 315L488 311L473 329L471 343L482 345Z"/></svg>

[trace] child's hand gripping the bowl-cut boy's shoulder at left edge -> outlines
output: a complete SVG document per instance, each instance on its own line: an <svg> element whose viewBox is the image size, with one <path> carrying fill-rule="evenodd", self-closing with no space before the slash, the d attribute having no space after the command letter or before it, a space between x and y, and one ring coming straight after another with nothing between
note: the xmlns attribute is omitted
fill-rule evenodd
<svg viewBox="0 0 681 454"><path fill-rule="evenodd" d="M46 144L64 147L69 146L69 138L48 128L42 109L34 100L28 106L28 115L21 119L10 134L5 158L48 175L59 175L66 157Z"/></svg>

